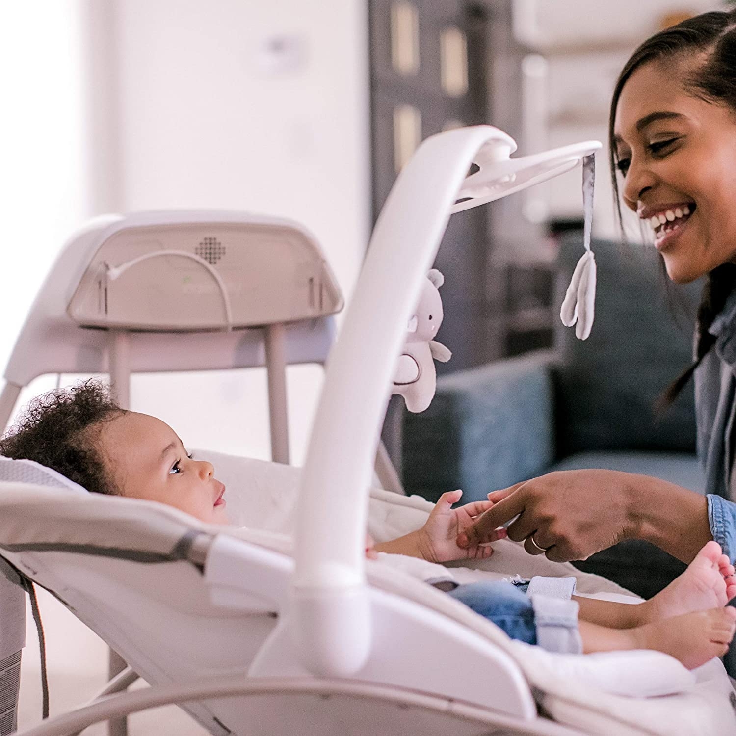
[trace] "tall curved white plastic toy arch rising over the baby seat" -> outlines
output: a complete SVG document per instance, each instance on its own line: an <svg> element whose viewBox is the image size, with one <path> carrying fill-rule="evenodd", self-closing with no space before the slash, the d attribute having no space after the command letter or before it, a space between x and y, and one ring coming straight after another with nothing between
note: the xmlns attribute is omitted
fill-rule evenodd
<svg viewBox="0 0 736 736"><path fill-rule="evenodd" d="M353 675L372 648L363 549L372 458L406 324L450 214L563 174L601 144L509 158L516 147L485 125L428 138L401 171L376 223L328 358L297 509L294 607L284 635L315 675ZM473 163L479 170L467 176Z"/></svg>

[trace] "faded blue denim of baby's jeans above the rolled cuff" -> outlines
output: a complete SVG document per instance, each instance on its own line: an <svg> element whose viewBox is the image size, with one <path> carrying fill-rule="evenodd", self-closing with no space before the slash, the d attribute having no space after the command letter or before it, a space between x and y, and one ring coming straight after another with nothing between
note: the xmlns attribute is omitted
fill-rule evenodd
<svg viewBox="0 0 736 736"><path fill-rule="evenodd" d="M489 581L459 585L447 595L495 623L512 639L536 644L534 606L525 590L526 585L517 587L513 583Z"/></svg>

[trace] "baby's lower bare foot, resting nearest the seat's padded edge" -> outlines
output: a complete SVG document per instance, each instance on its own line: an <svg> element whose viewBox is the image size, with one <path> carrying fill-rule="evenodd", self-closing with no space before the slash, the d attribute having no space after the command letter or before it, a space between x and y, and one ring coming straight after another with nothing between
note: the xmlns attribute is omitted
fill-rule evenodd
<svg viewBox="0 0 736 736"><path fill-rule="evenodd" d="M736 630L736 609L713 608L647 623L630 633L639 648L657 649L693 670L723 657Z"/></svg>

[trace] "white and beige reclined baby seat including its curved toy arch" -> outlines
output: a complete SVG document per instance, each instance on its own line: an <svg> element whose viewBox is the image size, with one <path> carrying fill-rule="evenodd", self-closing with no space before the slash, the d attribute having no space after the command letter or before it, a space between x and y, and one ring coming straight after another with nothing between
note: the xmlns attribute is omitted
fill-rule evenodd
<svg viewBox="0 0 736 736"><path fill-rule="evenodd" d="M569 658L512 642L442 592L364 559L366 526L387 539L431 509L369 486L406 322L450 211L561 173L596 147L514 161L513 141L486 126L420 146L381 213L330 353L304 469L210 455L247 528L93 497L59 478L49 487L21 477L24 461L0 461L0 555L152 684L25 736L71 734L165 702L218 736L736 732L717 660L688 673L664 654L615 652L579 657L576 676ZM480 171L466 178L470 163ZM497 577L571 574L581 593L620 593L507 541L483 567ZM606 673L622 671L634 682L627 695L620 682L606 687ZM637 672L647 676L637 682Z"/></svg>

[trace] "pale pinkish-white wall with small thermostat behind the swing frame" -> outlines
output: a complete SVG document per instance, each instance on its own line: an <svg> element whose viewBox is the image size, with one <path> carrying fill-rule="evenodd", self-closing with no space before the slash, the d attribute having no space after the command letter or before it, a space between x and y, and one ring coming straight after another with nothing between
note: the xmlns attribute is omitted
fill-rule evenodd
<svg viewBox="0 0 736 736"><path fill-rule="evenodd" d="M96 52L110 67L97 91L111 112L99 126L114 131L98 136L117 178L107 206L291 217L316 235L349 294L369 234L364 0L107 8L92 19L108 34ZM297 462L321 381L316 367L289 371ZM136 377L132 407L162 417L189 446L269 457L260 371Z"/></svg>

